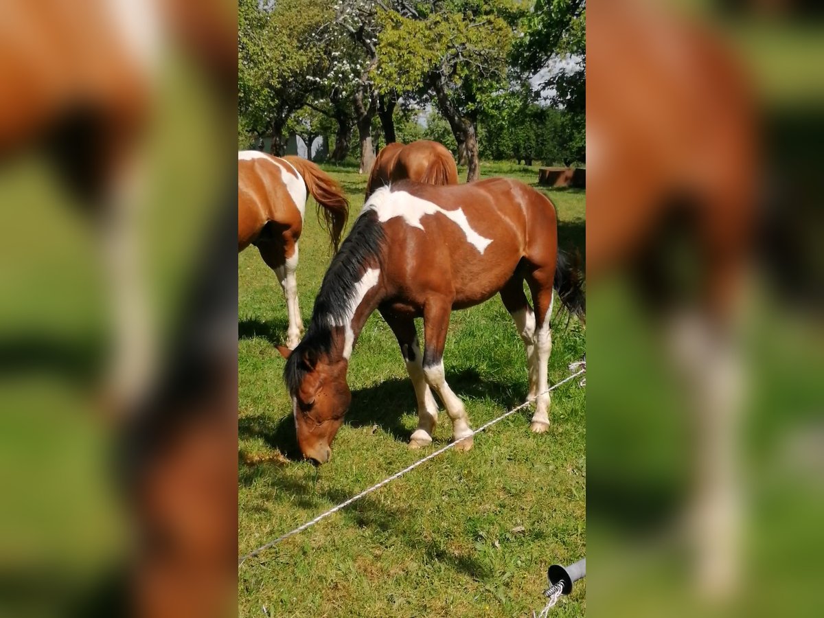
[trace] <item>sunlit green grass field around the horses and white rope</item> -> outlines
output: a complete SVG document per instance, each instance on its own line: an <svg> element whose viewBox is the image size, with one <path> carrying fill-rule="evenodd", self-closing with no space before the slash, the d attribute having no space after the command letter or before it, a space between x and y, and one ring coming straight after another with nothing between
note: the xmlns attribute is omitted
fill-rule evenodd
<svg viewBox="0 0 824 618"><path fill-rule="evenodd" d="M349 167L325 169L344 186L354 219L365 178ZM482 175L533 183L537 168L489 164ZM561 246L583 252L583 193L547 194L558 208ZM330 260L327 246L307 216L297 272L304 322ZM283 293L254 249L239 256L238 285L238 539L246 554L446 444L451 428L442 412L432 447L407 448L417 424L414 393L376 313L351 359L353 401L332 461L320 469L295 461L283 359L273 345L285 338ZM557 329L550 382L566 377L583 349L577 322ZM497 297L452 314L444 364L474 427L526 396L523 345ZM561 386L548 433L529 432L531 410L513 414L476 437L471 452L444 453L250 559L239 571L240 615L531 616L543 606L547 567L586 553L584 408L578 386ZM584 597L578 585L553 615L582 616Z"/></svg>

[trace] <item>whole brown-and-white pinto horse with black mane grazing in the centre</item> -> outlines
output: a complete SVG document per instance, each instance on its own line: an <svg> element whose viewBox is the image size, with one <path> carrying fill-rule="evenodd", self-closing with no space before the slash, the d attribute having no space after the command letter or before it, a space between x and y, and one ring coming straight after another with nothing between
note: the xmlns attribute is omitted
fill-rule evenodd
<svg viewBox="0 0 824 618"><path fill-rule="evenodd" d="M464 405L447 385L443 346L452 311L495 293L527 348L528 396L537 396L531 429L545 431L553 287L570 311L583 313L580 274L558 258L554 205L517 180L450 186L401 180L378 189L325 274L307 335L291 353L279 348L288 358L283 375L303 455L329 461L351 400L349 356L376 309L400 344L418 400L410 447L432 442L438 406L431 388L452 419L454 438L461 440L457 448L471 448ZM525 279L535 311L523 291ZM420 316L423 352L414 325Z"/></svg>

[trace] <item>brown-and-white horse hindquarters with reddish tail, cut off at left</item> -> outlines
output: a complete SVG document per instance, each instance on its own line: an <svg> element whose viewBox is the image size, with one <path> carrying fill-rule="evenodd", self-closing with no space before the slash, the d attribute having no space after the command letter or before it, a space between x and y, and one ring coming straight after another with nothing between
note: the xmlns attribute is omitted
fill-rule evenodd
<svg viewBox="0 0 824 618"><path fill-rule="evenodd" d="M278 276L289 316L289 348L297 345L303 331L295 271L307 192L315 198L318 219L322 213L322 224L337 251L349 202L335 179L300 157L272 157L255 150L237 153L237 250L255 245Z"/></svg>

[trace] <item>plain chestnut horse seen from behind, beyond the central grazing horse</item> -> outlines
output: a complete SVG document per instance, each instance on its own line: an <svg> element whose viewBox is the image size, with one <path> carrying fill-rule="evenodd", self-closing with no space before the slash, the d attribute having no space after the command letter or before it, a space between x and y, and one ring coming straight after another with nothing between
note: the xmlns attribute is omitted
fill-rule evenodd
<svg viewBox="0 0 824 618"><path fill-rule="evenodd" d="M382 186L397 180L415 180L427 185L457 185L458 168L452 152L438 142L420 139L393 142L378 152L366 184L366 199Z"/></svg>

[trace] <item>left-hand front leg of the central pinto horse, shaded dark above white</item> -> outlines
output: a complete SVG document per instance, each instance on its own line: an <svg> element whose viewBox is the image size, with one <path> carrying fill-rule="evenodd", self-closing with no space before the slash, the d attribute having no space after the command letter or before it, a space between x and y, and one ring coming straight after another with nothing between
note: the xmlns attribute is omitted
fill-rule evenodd
<svg viewBox="0 0 824 618"><path fill-rule="evenodd" d="M438 404L424 377L424 355L418 345L418 331L412 318L393 316L383 311L381 315L398 339L418 401L418 427L410 438L410 448L426 447L432 443L432 433L438 423Z"/></svg>

